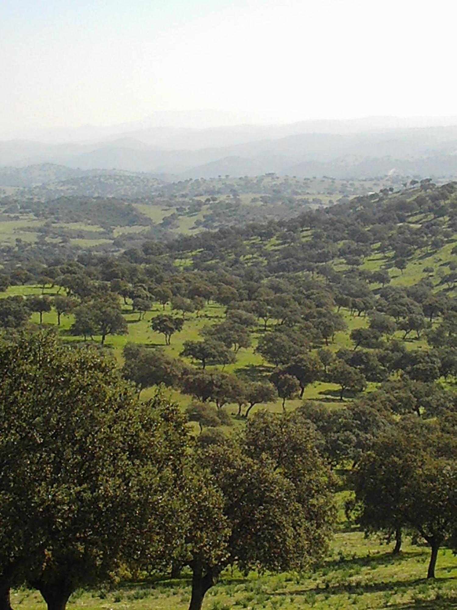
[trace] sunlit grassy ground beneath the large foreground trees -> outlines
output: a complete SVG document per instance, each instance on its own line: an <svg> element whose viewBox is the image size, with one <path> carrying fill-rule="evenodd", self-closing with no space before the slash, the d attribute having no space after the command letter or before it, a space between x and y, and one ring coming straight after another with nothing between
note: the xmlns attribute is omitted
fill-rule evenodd
<svg viewBox="0 0 457 610"><path fill-rule="evenodd" d="M340 500L345 492L339 494ZM342 512L342 511L340 511ZM363 534L341 520L330 553L307 573L278 575L227 570L208 591L204 610L264 608L315 608L316 610L396 610L457 608L457 558L450 550L439 553L436 579L426 581L429 550L403 545L399 555L391 545ZM150 578L116 583L93 590L78 590L69 608L93 610L186 610L190 600L190 573L182 578ZM32 590L13 592L13 607L38 610L45 607Z"/></svg>

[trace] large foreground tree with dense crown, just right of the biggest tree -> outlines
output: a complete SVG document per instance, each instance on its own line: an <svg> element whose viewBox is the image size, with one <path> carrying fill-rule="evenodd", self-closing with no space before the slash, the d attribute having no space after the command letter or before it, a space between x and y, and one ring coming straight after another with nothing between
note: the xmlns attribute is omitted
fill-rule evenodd
<svg viewBox="0 0 457 610"><path fill-rule="evenodd" d="M193 573L190 610L229 565L279 572L322 557L334 519L331 475L302 427L260 413L236 442L200 447L196 459L209 491L182 556Z"/></svg>

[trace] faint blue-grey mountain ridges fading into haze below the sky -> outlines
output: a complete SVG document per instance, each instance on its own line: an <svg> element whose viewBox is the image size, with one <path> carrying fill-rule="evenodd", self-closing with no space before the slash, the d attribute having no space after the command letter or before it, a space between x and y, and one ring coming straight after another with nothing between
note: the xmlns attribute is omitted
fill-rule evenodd
<svg viewBox="0 0 457 610"><path fill-rule="evenodd" d="M243 117L155 113L113 127L42 132L40 140L0 141L0 165L56 163L171 179L267 172L302 178L457 175L457 117L234 124L236 118Z"/></svg>

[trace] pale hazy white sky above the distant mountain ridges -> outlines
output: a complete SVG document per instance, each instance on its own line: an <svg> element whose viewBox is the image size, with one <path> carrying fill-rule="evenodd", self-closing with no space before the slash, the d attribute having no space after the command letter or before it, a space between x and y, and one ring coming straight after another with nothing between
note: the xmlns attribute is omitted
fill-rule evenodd
<svg viewBox="0 0 457 610"><path fill-rule="evenodd" d="M457 0L0 0L0 9L0 134L155 110L283 123L457 114Z"/></svg>

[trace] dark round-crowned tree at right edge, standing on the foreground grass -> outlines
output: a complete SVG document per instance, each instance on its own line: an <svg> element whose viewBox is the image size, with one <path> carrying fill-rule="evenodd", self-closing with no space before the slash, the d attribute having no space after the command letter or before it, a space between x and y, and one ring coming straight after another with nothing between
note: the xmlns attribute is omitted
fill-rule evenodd
<svg viewBox="0 0 457 610"><path fill-rule="evenodd" d="M361 525L416 531L431 548L427 578L434 578L441 545L455 540L456 464L455 437L423 423L378 439L353 475Z"/></svg>

